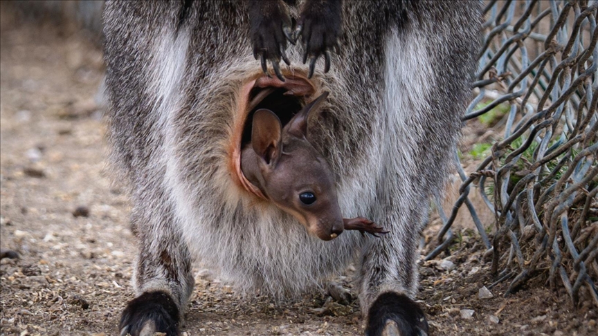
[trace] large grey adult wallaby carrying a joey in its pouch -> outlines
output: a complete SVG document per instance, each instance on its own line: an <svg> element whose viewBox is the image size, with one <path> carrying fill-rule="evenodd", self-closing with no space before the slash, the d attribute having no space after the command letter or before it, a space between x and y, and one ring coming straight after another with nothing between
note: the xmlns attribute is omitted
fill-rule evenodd
<svg viewBox="0 0 598 336"><path fill-rule="evenodd" d="M479 5L107 2L108 138L131 186L139 244L137 296L121 333L179 333L194 258L239 292L279 298L317 288L354 261L365 333L426 333L414 301L417 245L469 100ZM269 109L284 126L323 91L309 143L332 171L341 213L383 223L390 233L380 239L318 239L239 177L248 116Z"/></svg>

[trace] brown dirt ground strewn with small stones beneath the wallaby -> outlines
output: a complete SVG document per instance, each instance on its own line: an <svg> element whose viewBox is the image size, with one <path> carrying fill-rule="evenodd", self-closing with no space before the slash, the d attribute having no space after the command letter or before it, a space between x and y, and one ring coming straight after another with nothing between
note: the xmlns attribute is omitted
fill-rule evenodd
<svg viewBox="0 0 598 336"><path fill-rule="evenodd" d="M0 335L117 335L132 299L136 248L127 196L105 167L105 124L94 100L101 52L79 34L15 24L6 5L0 9L0 245L20 256L0 263ZM460 232L444 263L420 265L417 299L431 335L598 335L592 301L574 308L563 290L543 286L543 274L514 295L503 296L505 282L480 299L480 288L496 279L471 232ZM196 270L183 335L361 333L354 295L346 305L325 293L242 300ZM350 277L338 282L352 288Z"/></svg>

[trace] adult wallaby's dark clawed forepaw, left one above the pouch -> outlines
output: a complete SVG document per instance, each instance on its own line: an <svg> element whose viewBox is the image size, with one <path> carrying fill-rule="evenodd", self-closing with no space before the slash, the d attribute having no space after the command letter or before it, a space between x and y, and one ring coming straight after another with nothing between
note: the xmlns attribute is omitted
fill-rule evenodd
<svg viewBox="0 0 598 336"><path fill-rule="evenodd" d="M291 17L281 1L249 1L248 6L253 57L260 57L262 71L268 76L270 61L276 77L284 82L278 64L282 59L291 65L285 52L291 38Z"/></svg>

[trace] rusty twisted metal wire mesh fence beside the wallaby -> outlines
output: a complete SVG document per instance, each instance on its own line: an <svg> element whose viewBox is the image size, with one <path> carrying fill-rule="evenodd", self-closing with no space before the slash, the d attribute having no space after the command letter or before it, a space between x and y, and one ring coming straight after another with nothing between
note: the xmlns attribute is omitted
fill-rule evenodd
<svg viewBox="0 0 598 336"><path fill-rule="evenodd" d="M598 305L597 8L588 0L487 3L477 95L464 120L506 105L504 133L473 174L457 165L460 198L448 218L437 206L443 226L426 260L451 244L465 204L496 283L511 280L505 295L547 270L574 304L585 285ZM472 187L495 214L491 239L469 200Z"/></svg>

